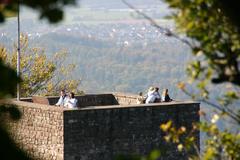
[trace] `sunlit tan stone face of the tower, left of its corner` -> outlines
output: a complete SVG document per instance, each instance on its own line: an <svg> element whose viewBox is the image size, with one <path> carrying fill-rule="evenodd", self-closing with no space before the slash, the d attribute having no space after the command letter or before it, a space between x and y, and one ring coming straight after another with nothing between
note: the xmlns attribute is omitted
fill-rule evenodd
<svg viewBox="0 0 240 160"><path fill-rule="evenodd" d="M12 102L22 113L18 121L8 120L17 144L35 159L63 159L63 110L28 102Z"/></svg>

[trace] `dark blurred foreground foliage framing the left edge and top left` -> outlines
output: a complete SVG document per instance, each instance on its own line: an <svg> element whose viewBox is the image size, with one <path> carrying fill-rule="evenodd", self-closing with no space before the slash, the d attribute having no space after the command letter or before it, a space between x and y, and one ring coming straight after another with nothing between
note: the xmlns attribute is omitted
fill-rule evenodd
<svg viewBox="0 0 240 160"><path fill-rule="evenodd" d="M32 1L32 0L0 0L0 23L4 22L7 16L13 16L17 11L17 3L33 8L40 13L40 18L47 18L49 22L58 22L63 18L63 7L65 5L74 4L75 0L48 0L48 1ZM16 94L17 83L21 79L17 77L16 71L4 64L0 59L0 100L4 101L7 97ZM20 112L14 107L7 107L0 104L0 119L5 118L6 113L10 113L11 117L16 120L21 117ZM0 158L1 159L19 159L29 160L24 151L22 151L9 136L4 123L0 123Z"/></svg>

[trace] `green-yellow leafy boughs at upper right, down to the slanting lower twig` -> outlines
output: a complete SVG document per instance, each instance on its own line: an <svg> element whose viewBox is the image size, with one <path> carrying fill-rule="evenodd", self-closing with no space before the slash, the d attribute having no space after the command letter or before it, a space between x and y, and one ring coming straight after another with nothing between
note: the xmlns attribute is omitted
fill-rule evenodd
<svg viewBox="0 0 240 160"><path fill-rule="evenodd" d="M189 92L186 84L179 84L179 88L240 123L238 113L229 107L239 99L240 34L239 26L226 13L225 3L217 0L165 1L174 9L172 18L179 31L193 41L189 46L195 59L188 65L187 74L190 85L197 84L199 92ZM233 86L218 97L218 103L209 100L210 80L215 84L228 82Z"/></svg>

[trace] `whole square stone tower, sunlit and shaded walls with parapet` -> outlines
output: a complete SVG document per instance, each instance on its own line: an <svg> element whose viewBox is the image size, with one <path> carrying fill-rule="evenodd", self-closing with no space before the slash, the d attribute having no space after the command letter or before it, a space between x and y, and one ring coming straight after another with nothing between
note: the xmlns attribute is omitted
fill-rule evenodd
<svg viewBox="0 0 240 160"><path fill-rule="evenodd" d="M119 154L146 155L159 147L167 151L164 160L186 159L174 145L164 142L159 126L172 120L176 126L191 128L199 121L199 103L137 105L136 95L119 93L81 97L82 104L90 106L66 109L34 104L29 99L11 102L23 113L20 121L7 122L13 138L37 159L113 160ZM54 104L58 97L48 99ZM199 132L195 134L199 146Z"/></svg>

